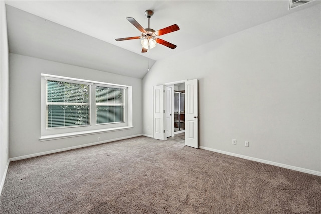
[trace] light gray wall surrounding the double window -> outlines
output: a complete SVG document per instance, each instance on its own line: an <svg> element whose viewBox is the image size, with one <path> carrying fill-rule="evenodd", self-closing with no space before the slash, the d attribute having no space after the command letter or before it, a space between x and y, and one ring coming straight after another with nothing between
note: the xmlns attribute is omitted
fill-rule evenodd
<svg viewBox="0 0 321 214"><path fill-rule="evenodd" d="M10 158L142 134L141 79L12 53L9 68ZM41 142L41 73L132 86L134 128Z"/></svg>

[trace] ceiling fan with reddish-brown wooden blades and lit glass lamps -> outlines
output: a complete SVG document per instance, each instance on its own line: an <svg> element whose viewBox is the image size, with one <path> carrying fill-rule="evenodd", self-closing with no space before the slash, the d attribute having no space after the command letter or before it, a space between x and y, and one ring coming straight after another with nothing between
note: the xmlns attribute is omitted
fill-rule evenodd
<svg viewBox="0 0 321 214"><path fill-rule="evenodd" d="M123 40L130 40L130 39L142 39L141 45L142 45L142 53L147 52L147 50L150 48L156 47L156 43L159 43L161 45L165 45L169 48L176 48L176 45L169 43L163 39L159 39L158 36L171 33L173 31L180 30L179 26L177 24L168 26L166 28L163 28L161 30L155 31L154 29L151 29L149 27L149 21L150 17L154 14L152 10L146 10L145 15L148 18L148 28L143 28L134 18L127 17L126 19L133 24L140 32L141 36L134 36L134 37L125 37L125 38L119 38L116 39L116 41L123 41Z"/></svg>

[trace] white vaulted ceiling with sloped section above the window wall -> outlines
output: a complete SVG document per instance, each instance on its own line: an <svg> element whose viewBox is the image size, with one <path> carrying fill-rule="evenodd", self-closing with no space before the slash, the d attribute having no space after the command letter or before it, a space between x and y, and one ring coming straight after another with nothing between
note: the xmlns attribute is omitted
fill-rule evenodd
<svg viewBox="0 0 321 214"><path fill-rule="evenodd" d="M147 73L148 64L151 67L157 60L180 54L196 46L319 3L319 0L314 0L288 10L289 0L7 0L7 5L44 18L32 17L30 14L7 7L9 48L12 53L29 54L34 57L143 78ZM135 18L144 28L147 28L148 19L144 14L147 9L154 11L150 19L150 28L159 30L172 24L180 27L179 31L160 37L177 45L176 49L172 50L157 44L157 47L147 53L141 53L142 47L139 40L115 41L116 38L140 36L139 30L128 22L126 17ZM83 46L79 47L79 44ZM36 51L33 47L37 47ZM134 67L137 69L135 70Z"/></svg>

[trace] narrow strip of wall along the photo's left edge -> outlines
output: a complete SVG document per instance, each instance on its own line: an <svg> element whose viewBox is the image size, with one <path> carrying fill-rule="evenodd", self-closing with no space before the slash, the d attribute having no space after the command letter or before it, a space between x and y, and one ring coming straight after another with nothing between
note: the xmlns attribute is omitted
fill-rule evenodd
<svg viewBox="0 0 321 214"><path fill-rule="evenodd" d="M9 70L5 2L0 1L0 193L5 181L9 143Z"/></svg>

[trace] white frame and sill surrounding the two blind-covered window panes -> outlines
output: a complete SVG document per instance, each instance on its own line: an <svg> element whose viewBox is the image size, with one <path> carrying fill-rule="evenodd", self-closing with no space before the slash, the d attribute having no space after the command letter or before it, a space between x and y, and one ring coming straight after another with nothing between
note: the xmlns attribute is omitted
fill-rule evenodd
<svg viewBox="0 0 321 214"><path fill-rule="evenodd" d="M90 125L79 127L47 127L47 80L71 82L77 84L89 85L89 117ZM103 87L119 87L124 90L124 122L96 124L96 85ZM50 74L41 74L41 137L40 141L55 140L61 138L90 135L102 132L111 132L133 128L132 122L132 86L117 85L105 82L56 76Z"/></svg>

